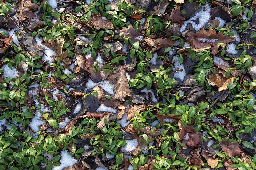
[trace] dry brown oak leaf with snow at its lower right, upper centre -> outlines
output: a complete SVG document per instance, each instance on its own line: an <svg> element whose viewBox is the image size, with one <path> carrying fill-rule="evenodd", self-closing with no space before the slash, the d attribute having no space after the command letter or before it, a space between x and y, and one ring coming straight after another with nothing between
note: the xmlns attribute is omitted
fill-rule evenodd
<svg viewBox="0 0 256 170"><path fill-rule="evenodd" d="M136 37L142 36L142 34L140 33L141 29L138 28L136 31L133 28L132 25L129 25L128 28L127 27L123 27L122 30L120 30L120 36L123 36L123 38L128 38L131 37L131 41L132 43L139 41L138 39L136 39Z"/></svg>

